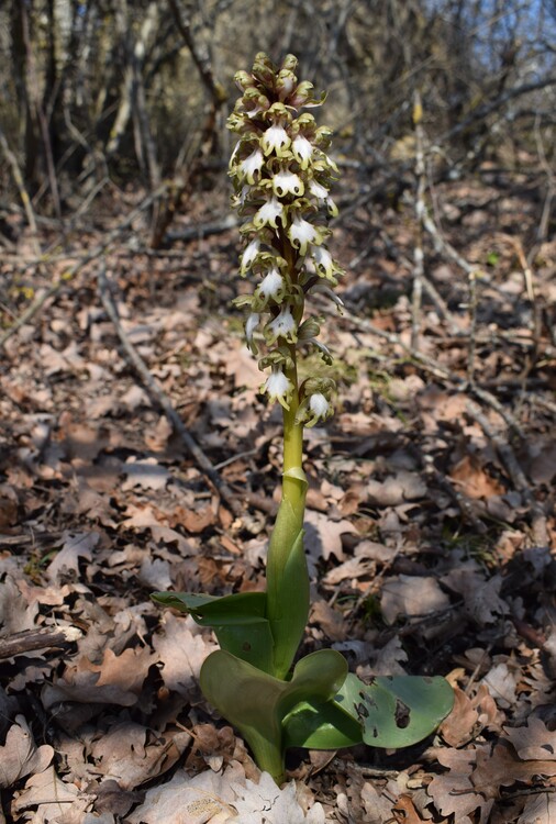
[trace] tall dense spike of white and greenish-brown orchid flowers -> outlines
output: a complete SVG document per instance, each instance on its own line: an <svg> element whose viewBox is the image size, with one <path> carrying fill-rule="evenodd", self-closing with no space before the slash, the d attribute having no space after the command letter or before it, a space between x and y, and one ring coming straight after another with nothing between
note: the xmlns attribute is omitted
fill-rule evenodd
<svg viewBox="0 0 556 824"><path fill-rule="evenodd" d="M311 292L329 296L342 269L326 248L327 220L337 214L330 186L337 167L326 155L331 131L318 126L302 109L321 105L310 82L298 82L297 58L288 55L280 68L260 53L251 73L240 71L243 92L229 127L240 135L230 160L234 205L245 218L245 248L241 274L253 275L253 294L236 303L248 308L246 337L257 354L264 338L268 353L259 367L270 369L263 386L270 399L289 409L298 393L297 417L311 426L332 413L334 383L312 378L296 386L294 353L312 345L330 361L326 347L315 338L319 321L304 318Z"/></svg>

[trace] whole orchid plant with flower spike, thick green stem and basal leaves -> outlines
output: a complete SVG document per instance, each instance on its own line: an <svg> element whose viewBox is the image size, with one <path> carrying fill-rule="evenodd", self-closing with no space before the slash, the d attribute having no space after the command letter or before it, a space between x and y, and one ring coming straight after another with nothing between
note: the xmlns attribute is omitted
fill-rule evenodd
<svg viewBox="0 0 556 824"><path fill-rule="evenodd" d="M330 189L338 169L326 154L331 130L305 111L324 96L316 99L312 83L298 81L297 63L288 55L277 67L258 54L252 71L235 77L242 96L229 119L238 137L230 175L244 219L240 271L255 283L236 303L247 309L247 344L267 372L262 391L280 404L283 417L281 502L266 591L153 595L213 627L221 648L202 665L201 689L277 782L285 778L288 747L408 746L427 736L453 702L443 678L376 677L365 683L334 649L296 662L310 606L303 428L332 414L334 394L327 377L301 380L298 361L308 350L320 353L324 365L332 361L318 339L322 319L307 311L311 298L326 296L342 305L334 293L342 269L326 245L327 221L337 214Z"/></svg>

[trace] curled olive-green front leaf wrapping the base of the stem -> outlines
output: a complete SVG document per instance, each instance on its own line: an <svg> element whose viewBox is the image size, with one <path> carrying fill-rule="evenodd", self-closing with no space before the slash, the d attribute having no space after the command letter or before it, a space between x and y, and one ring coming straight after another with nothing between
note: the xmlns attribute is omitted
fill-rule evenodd
<svg viewBox="0 0 556 824"><path fill-rule="evenodd" d="M230 653L209 655L201 667L201 689L249 744L258 766L282 777L282 721L302 701L325 703L345 680L347 664L333 649L321 649L296 665L290 681L262 672Z"/></svg>

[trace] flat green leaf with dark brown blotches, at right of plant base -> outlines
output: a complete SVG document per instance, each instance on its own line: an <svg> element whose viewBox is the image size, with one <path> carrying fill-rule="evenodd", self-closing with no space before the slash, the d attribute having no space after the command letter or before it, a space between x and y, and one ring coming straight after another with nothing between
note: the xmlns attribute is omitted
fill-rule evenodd
<svg viewBox="0 0 556 824"><path fill-rule="evenodd" d="M363 726L371 747L408 747L426 738L446 717L454 692L444 678L379 676L364 683L348 675L336 702Z"/></svg>

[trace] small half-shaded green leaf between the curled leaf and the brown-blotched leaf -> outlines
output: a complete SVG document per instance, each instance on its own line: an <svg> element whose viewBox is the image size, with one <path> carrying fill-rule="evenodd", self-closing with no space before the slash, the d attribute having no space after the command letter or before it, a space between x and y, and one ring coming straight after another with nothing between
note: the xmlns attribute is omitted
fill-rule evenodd
<svg viewBox="0 0 556 824"><path fill-rule="evenodd" d="M363 728L335 701L302 701L283 721L283 746L342 749L363 743Z"/></svg>

